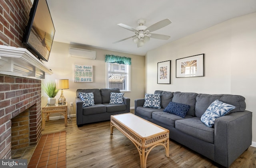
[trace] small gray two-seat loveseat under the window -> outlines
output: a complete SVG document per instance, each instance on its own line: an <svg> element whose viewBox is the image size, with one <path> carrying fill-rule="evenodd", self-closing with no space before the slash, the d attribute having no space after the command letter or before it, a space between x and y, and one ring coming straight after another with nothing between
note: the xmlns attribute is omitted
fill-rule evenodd
<svg viewBox="0 0 256 168"><path fill-rule="evenodd" d="M95 105L84 107L79 92L93 93ZM118 88L113 89L78 89L76 90L76 124L110 120L110 115L130 112L130 98L124 97L124 104L109 104L110 93L120 93Z"/></svg>

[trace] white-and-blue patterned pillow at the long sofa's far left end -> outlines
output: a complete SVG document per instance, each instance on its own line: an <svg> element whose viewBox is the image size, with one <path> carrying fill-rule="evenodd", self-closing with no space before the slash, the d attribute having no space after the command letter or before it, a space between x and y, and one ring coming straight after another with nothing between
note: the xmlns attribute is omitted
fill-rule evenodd
<svg viewBox="0 0 256 168"><path fill-rule="evenodd" d="M145 102L143 107L160 109L160 94L145 94Z"/></svg>

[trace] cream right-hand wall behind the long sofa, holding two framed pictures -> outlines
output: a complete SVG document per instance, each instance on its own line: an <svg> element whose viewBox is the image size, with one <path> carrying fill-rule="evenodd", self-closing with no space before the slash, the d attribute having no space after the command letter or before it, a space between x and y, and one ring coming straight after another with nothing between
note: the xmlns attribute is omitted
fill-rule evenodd
<svg viewBox="0 0 256 168"><path fill-rule="evenodd" d="M176 78L176 59L205 54L205 76ZM172 61L171 84L157 84L157 63ZM205 94L239 94L253 112L252 141L256 147L256 13L222 22L148 51L146 92L154 90Z"/></svg>

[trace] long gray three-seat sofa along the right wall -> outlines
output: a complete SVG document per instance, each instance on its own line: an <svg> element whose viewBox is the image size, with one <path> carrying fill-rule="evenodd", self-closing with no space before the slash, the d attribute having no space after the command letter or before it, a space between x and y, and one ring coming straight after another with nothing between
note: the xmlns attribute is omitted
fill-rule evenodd
<svg viewBox="0 0 256 168"><path fill-rule="evenodd" d="M215 163L229 167L252 143L252 112L247 111L245 98L230 94L197 94L166 92L160 94L160 109L143 107L144 99L135 100L135 114L170 130L170 139L206 156ZM228 115L207 127L200 117L214 102L220 100L235 108ZM190 105L186 117L164 112L169 102Z"/></svg>

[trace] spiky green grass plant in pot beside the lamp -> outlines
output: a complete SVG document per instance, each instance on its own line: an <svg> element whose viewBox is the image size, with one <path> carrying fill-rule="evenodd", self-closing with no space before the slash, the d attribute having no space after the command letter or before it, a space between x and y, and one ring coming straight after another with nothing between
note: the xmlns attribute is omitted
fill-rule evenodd
<svg viewBox="0 0 256 168"><path fill-rule="evenodd" d="M58 94L59 90L56 89L57 85L55 82L48 82L46 84L42 84L42 89L49 96L48 104L55 104L56 99L55 96Z"/></svg>

